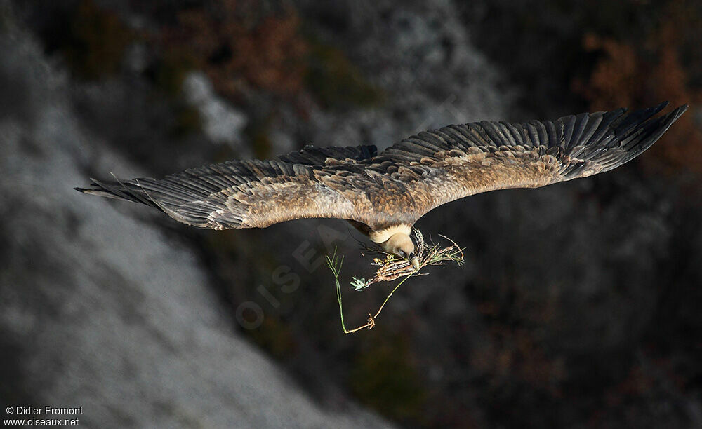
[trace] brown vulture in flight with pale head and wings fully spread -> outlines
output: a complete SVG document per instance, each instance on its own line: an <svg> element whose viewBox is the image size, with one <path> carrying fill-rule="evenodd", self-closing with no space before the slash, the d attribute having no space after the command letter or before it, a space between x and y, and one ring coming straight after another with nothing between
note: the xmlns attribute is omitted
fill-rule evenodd
<svg viewBox="0 0 702 429"><path fill-rule="evenodd" d="M375 146L314 147L262 161L227 161L164 179L93 179L93 195L151 205L184 224L265 228L291 219L346 219L386 252L418 261L411 228L426 212L475 193L588 177L648 149L687 109L668 103L555 121L481 121Z"/></svg>

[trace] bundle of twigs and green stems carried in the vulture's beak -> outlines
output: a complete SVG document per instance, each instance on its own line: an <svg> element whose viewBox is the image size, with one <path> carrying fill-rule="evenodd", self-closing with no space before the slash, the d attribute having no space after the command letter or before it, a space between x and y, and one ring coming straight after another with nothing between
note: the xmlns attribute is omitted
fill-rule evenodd
<svg viewBox="0 0 702 429"><path fill-rule="evenodd" d="M359 329L364 329L366 327L368 329L373 329L373 327L376 325L376 318L378 315L380 315L380 312L383 311L383 307L388 303L388 300L390 297L392 297L392 294L395 293L400 286L402 286L402 283L413 275L426 275L427 273L421 273L422 268L425 266L444 265L447 261L456 262L458 265L463 264L463 249L450 238L442 236L443 238L446 238L446 240L449 240L451 245L447 247L439 247L439 245L435 245L433 243L432 245L425 243L424 236L418 229L412 229L412 232L415 236L415 243L417 244L415 254L419 260L418 270L415 270L409 261L398 257L396 254L385 252L378 246L371 247L369 245L362 244L366 254L375 256L373 257L373 262L371 262L371 265L378 266L380 268L376 270L376 275L370 280L354 277L351 285L355 288L355 290L364 290L373 283L391 282L399 278L402 278L402 280L397 284L397 286L395 286L390 294L388 294L388 297L385 297L385 301L383 301L383 304L380 305L380 308L378 308L375 315L369 313L366 324L355 329L346 329L344 323L343 305L341 304L341 286L339 282L339 274L343 264L343 257L336 256L336 251L331 257L326 257L326 264L329 266L329 269L331 269L334 279L336 280L336 297L339 302L341 327L343 328L345 334L350 334L351 332L356 332Z"/></svg>

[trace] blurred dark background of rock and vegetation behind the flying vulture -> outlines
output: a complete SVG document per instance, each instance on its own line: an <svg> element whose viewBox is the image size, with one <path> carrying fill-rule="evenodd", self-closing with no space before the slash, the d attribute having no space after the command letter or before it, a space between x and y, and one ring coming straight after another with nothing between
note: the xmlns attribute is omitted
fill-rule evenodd
<svg viewBox="0 0 702 429"><path fill-rule="evenodd" d="M0 397L88 427L702 426L699 1L0 1ZM449 123L691 105L613 172L486 193L391 285L357 233L72 190ZM6 416L4 416L5 418Z"/></svg>

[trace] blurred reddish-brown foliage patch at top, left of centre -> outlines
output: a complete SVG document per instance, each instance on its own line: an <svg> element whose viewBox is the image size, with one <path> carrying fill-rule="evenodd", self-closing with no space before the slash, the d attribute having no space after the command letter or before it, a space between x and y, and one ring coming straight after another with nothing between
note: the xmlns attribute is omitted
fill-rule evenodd
<svg viewBox="0 0 702 429"><path fill-rule="evenodd" d="M259 16L255 8L223 0L216 8L178 13L177 25L161 34L166 50L206 71L217 90L229 97L254 86L278 95L303 88L307 43L294 11Z"/></svg>

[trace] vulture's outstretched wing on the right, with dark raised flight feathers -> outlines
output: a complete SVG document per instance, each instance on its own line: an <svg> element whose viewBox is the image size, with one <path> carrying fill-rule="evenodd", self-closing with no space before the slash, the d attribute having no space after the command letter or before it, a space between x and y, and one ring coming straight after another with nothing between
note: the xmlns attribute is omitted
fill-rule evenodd
<svg viewBox="0 0 702 429"><path fill-rule="evenodd" d="M651 118L667 104L630 114L617 109L557 121L449 125L404 139L366 162L406 184L419 219L475 193L536 188L616 168L648 149L687 110L684 105Z"/></svg>

